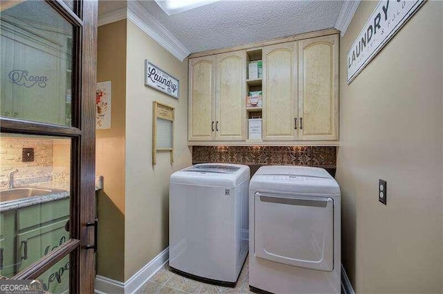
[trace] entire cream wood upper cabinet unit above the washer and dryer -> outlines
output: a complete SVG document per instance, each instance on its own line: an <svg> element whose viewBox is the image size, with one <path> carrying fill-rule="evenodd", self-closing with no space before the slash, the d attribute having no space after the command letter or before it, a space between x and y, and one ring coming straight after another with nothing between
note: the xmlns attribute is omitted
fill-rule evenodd
<svg viewBox="0 0 443 294"><path fill-rule="evenodd" d="M337 145L338 43L338 31L325 30L194 53L189 60L189 141ZM261 68L255 65L260 60ZM254 73L248 80L249 67L261 77ZM257 91L262 91L262 105L246 107L246 96L257 96ZM262 139L248 139L248 119L260 117Z"/></svg>

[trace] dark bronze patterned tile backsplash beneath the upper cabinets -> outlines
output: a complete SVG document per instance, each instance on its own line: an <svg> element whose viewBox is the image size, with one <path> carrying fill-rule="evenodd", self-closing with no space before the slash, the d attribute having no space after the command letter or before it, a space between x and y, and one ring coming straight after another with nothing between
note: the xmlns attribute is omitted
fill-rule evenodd
<svg viewBox="0 0 443 294"><path fill-rule="evenodd" d="M336 151L334 146L192 146L192 163L336 168Z"/></svg>

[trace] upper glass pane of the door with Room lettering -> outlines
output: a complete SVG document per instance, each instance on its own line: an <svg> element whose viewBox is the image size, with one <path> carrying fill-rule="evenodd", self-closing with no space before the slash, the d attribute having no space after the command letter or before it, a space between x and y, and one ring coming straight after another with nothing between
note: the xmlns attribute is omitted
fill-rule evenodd
<svg viewBox="0 0 443 294"><path fill-rule="evenodd" d="M1 116L71 126L74 26L45 1L0 17Z"/></svg>

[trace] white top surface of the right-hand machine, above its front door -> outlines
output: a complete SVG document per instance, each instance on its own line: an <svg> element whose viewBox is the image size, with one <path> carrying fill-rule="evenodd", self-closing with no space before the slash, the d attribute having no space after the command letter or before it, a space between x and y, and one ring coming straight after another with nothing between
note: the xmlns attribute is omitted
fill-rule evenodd
<svg viewBox="0 0 443 294"><path fill-rule="evenodd" d="M340 194L336 180L324 168L310 166L262 166L251 179L250 188L258 191Z"/></svg>

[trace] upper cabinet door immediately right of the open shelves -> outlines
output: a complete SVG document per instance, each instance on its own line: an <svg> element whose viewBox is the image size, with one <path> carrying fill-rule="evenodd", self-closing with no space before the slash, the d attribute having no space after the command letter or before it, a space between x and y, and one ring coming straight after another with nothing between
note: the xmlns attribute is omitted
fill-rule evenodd
<svg viewBox="0 0 443 294"><path fill-rule="evenodd" d="M297 139L296 42L263 48L263 139Z"/></svg>

